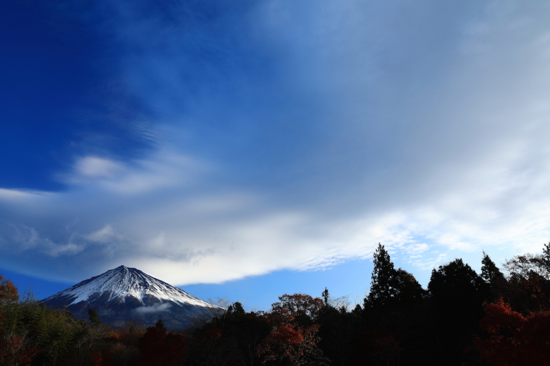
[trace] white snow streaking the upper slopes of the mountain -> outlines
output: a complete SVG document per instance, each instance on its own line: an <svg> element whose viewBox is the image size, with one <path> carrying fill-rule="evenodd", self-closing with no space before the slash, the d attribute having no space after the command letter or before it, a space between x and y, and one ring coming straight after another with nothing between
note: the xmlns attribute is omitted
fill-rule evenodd
<svg viewBox="0 0 550 366"><path fill-rule="evenodd" d="M110 301L120 301L130 296L138 299L144 306L144 297L155 297L161 302L173 301L180 306L191 305L218 308L218 306L197 299L197 297L189 295L184 290L166 284L166 282L151 277L136 268L128 268L126 266L119 266L102 275L86 279L60 293L43 299L43 302L48 303L54 299L70 298L72 302L67 305L71 306L82 301L98 299L104 293L109 295L105 304Z"/></svg>

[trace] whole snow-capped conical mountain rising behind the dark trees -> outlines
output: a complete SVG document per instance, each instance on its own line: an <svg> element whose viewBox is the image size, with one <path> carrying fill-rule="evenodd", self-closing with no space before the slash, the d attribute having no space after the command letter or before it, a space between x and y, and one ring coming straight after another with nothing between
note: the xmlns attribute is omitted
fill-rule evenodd
<svg viewBox="0 0 550 366"><path fill-rule="evenodd" d="M212 317L223 308L191 296L136 269L120 266L91 277L42 300L50 308L67 308L80 319L94 309L103 323L122 326L136 320L153 325L162 319L166 328L181 329L197 315Z"/></svg>

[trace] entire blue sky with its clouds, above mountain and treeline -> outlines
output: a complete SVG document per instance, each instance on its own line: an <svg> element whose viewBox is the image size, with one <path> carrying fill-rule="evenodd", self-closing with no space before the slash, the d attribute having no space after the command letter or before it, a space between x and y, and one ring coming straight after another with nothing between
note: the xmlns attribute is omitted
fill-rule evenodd
<svg viewBox="0 0 550 366"><path fill-rule="evenodd" d="M542 1L8 1L0 271L362 298L550 233ZM353 301L352 301L353 302Z"/></svg>

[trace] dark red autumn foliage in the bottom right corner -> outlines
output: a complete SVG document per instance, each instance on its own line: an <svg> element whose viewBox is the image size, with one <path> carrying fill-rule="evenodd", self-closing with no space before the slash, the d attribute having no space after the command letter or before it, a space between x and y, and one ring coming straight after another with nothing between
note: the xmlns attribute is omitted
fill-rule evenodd
<svg viewBox="0 0 550 366"><path fill-rule="evenodd" d="M476 339L481 358L496 366L538 366L550 363L550 312L524 317L503 299L485 305L480 321L487 339Z"/></svg>

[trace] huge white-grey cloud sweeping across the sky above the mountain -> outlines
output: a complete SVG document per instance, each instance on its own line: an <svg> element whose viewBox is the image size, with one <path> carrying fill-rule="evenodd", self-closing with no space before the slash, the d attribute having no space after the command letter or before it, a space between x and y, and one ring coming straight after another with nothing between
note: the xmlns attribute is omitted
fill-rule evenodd
<svg viewBox="0 0 550 366"><path fill-rule="evenodd" d="M50 275L31 254L42 248L73 260L52 276L125 264L190 284L330 268L371 258L377 242L419 271L482 248L539 251L550 234L550 29L546 8L509 3L267 1L239 19L253 36L228 27L234 48L192 43L234 57L201 60L220 69L197 90L176 77L196 51L178 48L183 32L157 19L144 30L120 5L118 36L143 48L121 60L122 78L169 116L157 150L80 158L69 189L46 199L0 190L3 220L23 225L0 232L0 264ZM258 54L274 63L265 75L231 69Z"/></svg>

